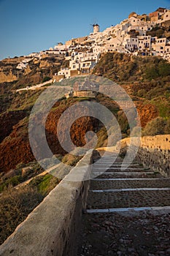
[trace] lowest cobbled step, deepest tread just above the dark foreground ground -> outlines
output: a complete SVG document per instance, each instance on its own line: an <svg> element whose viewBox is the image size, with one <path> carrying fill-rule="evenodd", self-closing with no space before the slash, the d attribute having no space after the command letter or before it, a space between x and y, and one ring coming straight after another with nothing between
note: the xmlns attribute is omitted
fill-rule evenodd
<svg viewBox="0 0 170 256"><path fill-rule="evenodd" d="M152 206L170 206L170 190L88 193L88 209Z"/></svg>

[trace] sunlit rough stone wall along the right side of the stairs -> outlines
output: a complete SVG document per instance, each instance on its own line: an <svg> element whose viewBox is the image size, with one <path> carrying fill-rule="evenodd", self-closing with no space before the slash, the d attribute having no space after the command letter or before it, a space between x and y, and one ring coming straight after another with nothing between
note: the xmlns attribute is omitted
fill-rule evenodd
<svg viewBox="0 0 170 256"><path fill-rule="evenodd" d="M131 154L133 154L135 140L131 145ZM130 145L130 139L121 140L122 151ZM163 175L170 177L170 135L145 136L140 140L140 146L136 159L144 166L150 167Z"/></svg>

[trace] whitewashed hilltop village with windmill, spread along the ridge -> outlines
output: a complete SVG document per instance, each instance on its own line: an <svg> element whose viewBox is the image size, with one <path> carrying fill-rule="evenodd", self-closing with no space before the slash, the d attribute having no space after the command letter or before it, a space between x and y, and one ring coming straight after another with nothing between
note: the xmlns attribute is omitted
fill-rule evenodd
<svg viewBox="0 0 170 256"><path fill-rule="evenodd" d="M26 69L32 59L42 56L62 55L66 67L53 76L53 81L90 73L102 53L128 53L132 56L161 56L170 61L170 10L158 8L149 15L131 12L127 19L116 26L100 31L93 24L93 33L58 43L54 48L31 53L21 61L17 69Z"/></svg>

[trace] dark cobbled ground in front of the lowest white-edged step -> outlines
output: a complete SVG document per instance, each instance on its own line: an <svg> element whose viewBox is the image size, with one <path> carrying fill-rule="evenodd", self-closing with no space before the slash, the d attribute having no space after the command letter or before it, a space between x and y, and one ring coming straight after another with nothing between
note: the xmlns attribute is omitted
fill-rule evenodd
<svg viewBox="0 0 170 256"><path fill-rule="evenodd" d="M77 256L168 256L170 214L84 214Z"/></svg>

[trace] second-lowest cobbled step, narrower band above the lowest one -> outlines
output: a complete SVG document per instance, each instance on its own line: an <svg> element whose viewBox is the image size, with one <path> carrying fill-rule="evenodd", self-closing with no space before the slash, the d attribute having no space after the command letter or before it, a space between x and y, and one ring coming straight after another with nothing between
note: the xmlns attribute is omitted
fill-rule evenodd
<svg viewBox="0 0 170 256"><path fill-rule="evenodd" d="M93 180L90 181L91 190L105 189L137 189L137 188L170 187L170 179L131 179L131 180Z"/></svg>

